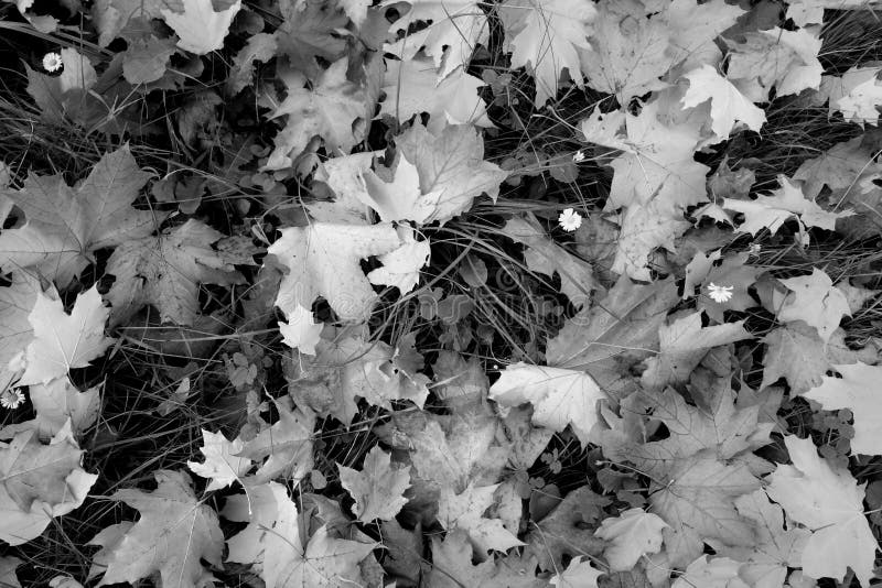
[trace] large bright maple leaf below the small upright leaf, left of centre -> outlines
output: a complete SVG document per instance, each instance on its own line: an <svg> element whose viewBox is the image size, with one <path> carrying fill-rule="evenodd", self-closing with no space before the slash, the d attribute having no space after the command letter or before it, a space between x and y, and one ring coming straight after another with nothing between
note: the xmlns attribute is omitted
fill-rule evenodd
<svg viewBox="0 0 882 588"><path fill-rule="evenodd" d="M276 305L286 315L311 308L323 296L343 320L365 320L376 294L361 268L370 255L389 253L400 239L391 224L372 226L313 222L289 227L267 252L288 269Z"/></svg>

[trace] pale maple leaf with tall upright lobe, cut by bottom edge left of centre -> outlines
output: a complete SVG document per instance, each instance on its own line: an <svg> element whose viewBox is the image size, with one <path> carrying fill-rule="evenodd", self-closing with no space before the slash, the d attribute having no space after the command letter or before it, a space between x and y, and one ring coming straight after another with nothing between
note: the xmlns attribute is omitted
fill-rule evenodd
<svg viewBox="0 0 882 588"><path fill-rule="evenodd" d="M332 538L327 525L319 527L304 545L298 524L297 505L279 497L271 527L262 538L260 576L267 588L336 588L362 582L358 563L375 544Z"/></svg>

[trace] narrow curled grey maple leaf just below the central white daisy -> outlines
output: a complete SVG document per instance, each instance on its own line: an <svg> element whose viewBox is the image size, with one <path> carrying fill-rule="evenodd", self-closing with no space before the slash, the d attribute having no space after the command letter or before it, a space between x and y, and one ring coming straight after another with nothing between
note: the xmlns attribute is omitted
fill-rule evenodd
<svg viewBox="0 0 882 588"><path fill-rule="evenodd" d="M527 246L524 261L529 271L549 277L555 273L560 276L560 291L577 309L585 305L592 291L600 288L591 264L572 255L549 238L533 214L508 220L502 233Z"/></svg>

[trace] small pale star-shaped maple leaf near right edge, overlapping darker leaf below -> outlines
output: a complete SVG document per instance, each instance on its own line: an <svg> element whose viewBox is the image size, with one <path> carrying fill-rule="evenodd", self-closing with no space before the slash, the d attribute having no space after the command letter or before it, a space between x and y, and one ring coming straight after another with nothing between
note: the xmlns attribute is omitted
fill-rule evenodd
<svg viewBox="0 0 882 588"><path fill-rule="evenodd" d="M781 280L793 292L778 311L778 319L803 320L818 330L824 342L830 340L843 315L851 316L846 294L833 285L824 270L811 269L811 275Z"/></svg>

